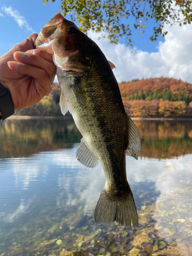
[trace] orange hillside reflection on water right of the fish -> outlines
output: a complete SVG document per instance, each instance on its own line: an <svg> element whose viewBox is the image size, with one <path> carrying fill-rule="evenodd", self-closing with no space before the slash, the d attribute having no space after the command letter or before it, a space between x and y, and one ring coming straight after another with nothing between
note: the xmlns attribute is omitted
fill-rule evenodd
<svg viewBox="0 0 192 256"><path fill-rule="evenodd" d="M140 156L172 158L192 153L190 121L135 121L141 136Z"/></svg>

